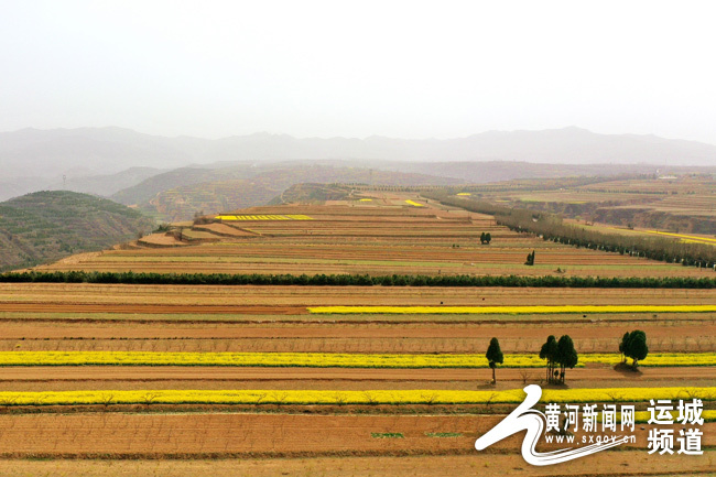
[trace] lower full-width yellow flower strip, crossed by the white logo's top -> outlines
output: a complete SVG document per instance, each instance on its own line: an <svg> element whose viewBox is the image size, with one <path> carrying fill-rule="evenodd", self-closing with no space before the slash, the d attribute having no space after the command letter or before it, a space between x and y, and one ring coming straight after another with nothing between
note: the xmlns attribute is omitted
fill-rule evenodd
<svg viewBox="0 0 716 477"><path fill-rule="evenodd" d="M544 390L541 402L648 402L650 399L716 400L716 388L616 388ZM520 403L524 391L448 390L101 390L0 392L0 405L50 404L480 404Z"/></svg>

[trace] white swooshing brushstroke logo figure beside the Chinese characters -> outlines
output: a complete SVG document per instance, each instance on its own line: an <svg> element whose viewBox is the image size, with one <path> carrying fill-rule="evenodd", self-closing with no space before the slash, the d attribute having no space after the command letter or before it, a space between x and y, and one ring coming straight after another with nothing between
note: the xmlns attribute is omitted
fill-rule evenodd
<svg viewBox="0 0 716 477"><path fill-rule="evenodd" d="M518 408L499 424L475 441L476 449L484 451L496 442L502 441L512 434L520 431L527 431L524 434L524 441L522 441L522 457L528 464L545 466L596 454L628 442L626 437L614 437L606 442L599 442L579 448L568 447L545 453L536 452L536 444L542 436L545 423L547 422L546 416L542 412L532 409L542 397L542 388L536 384L530 384L524 388L524 392L527 392L527 397L522 404L518 405Z"/></svg>

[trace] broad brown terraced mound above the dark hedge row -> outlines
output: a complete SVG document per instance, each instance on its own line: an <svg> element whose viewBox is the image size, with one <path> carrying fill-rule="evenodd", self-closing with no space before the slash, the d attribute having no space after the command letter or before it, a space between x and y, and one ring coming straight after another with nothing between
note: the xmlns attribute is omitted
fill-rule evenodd
<svg viewBox="0 0 716 477"><path fill-rule="evenodd" d="M704 271L690 267L544 241L497 226L490 216L448 210L424 199L404 197L376 195L370 205L358 206L355 204L366 203L254 207L219 215L217 224L184 228L183 241L165 235L150 236L137 247L40 269L371 275L704 275ZM417 207L408 200L425 206ZM482 232L491 235L489 246L480 243ZM195 246L176 247L186 243ZM527 267L525 257L533 250L535 263Z"/></svg>

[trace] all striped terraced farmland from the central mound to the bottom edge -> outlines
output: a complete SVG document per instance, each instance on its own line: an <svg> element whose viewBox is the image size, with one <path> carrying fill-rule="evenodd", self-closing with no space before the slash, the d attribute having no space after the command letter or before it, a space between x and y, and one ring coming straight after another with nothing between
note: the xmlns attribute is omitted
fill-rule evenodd
<svg viewBox="0 0 716 477"><path fill-rule="evenodd" d="M268 218L186 225L188 238L163 235L165 245L134 243L45 269L706 273L544 242L414 195L362 198L371 200L229 210ZM311 219L272 218L296 215ZM482 231L489 246L479 243ZM536 264L524 265L532 250ZM715 306L716 290L699 289L0 283L0 474L708 471ZM620 366L618 350L632 329L649 339L638 372ZM540 348L549 335L565 334L579 361L566 384L547 384ZM485 358L491 337L505 353L496 384ZM705 453L649 456L639 414L637 442L596 456L598 466L586 458L556 470L531 467L519 455L521 436L478 454L475 440L521 402L529 383L543 386L545 402L633 403L640 412L649 399L698 397Z"/></svg>

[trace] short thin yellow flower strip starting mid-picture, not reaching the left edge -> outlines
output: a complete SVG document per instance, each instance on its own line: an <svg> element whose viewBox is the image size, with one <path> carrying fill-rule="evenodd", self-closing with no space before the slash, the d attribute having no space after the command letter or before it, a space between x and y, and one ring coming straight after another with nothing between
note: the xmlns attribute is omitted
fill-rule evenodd
<svg viewBox="0 0 716 477"><path fill-rule="evenodd" d="M716 305L562 305L562 306L310 306L313 314L380 315L534 315L564 313L708 313Z"/></svg>

